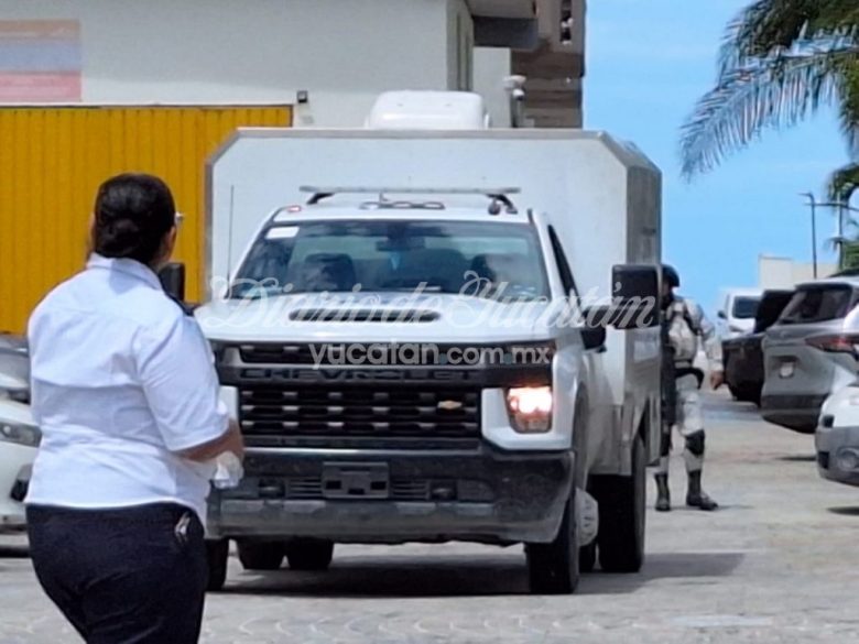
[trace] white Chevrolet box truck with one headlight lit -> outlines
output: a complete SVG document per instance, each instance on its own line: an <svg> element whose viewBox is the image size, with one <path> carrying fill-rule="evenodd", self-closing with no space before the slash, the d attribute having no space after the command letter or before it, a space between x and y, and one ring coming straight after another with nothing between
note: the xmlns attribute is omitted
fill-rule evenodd
<svg viewBox="0 0 859 644"><path fill-rule="evenodd" d="M210 496L211 586L227 539L257 569L523 543L535 592L638 570L657 316L580 313L656 301L659 171L600 133L376 120L398 127L241 130L210 162L196 316L247 444Z"/></svg>

